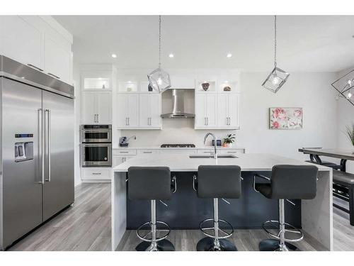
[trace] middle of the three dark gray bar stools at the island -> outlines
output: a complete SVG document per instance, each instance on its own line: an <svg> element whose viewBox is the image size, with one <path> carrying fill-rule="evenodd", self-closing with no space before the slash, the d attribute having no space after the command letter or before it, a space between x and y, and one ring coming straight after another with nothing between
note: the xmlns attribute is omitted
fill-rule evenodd
<svg viewBox="0 0 354 266"><path fill-rule="evenodd" d="M219 199L239 199L241 196L241 168L237 165L200 165L198 177L193 177L193 188L198 198L213 199L214 217L207 218L199 225L206 238L197 244L198 251L236 251L237 248L229 240L234 233L232 224L219 219ZM207 222L213 222L212 227L203 227ZM228 229L219 227L223 223Z"/></svg>

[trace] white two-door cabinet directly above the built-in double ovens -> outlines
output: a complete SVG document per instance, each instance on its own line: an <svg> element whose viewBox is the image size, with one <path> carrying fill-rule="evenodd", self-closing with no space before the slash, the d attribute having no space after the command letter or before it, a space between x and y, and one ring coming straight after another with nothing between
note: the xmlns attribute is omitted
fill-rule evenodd
<svg viewBox="0 0 354 266"><path fill-rule="evenodd" d="M112 123L112 92L83 92L82 123Z"/></svg>

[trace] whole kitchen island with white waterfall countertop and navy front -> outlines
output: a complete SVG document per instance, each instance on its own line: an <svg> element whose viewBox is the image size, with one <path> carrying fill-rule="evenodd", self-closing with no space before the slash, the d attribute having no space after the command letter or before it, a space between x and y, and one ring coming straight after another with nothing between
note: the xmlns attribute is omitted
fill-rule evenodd
<svg viewBox="0 0 354 266"><path fill-rule="evenodd" d="M253 191L253 174L270 175L273 165L310 165L307 162L270 154L239 154L232 158L193 157L184 154L142 154L113 168L112 182L112 248L115 250L127 229L149 221L149 203L127 199L127 170L131 166L166 166L177 177L179 194L173 194L168 207L157 211L159 220L171 228L191 229L212 213L212 204L200 201L192 188L193 174L199 165L239 165L242 171L242 196L224 204L220 215L232 221L236 228L261 228L268 218L278 219L276 201L265 199ZM287 206L287 222L295 223L307 235L333 250L332 226L332 170L319 165L319 180L315 199L296 201L297 206ZM149 178L149 177L147 177ZM222 205L222 204L220 204ZM289 204L290 205L290 204ZM202 209L200 212L198 212ZM288 211L289 209L289 211ZM194 211L194 212L193 212ZM166 214L164 216L164 214ZM161 218L160 218L161 217Z"/></svg>

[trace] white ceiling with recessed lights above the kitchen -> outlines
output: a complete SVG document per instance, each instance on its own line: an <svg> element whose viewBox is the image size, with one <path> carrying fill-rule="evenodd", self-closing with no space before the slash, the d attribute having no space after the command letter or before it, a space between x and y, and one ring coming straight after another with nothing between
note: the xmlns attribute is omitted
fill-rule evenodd
<svg viewBox="0 0 354 266"><path fill-rule="evenodd" d="M75 62L157 67L158 16L54 18L74 35ZM273 34L273 16L163 16L162 67L270 71ZM288 72L351 67L353 35L354 16L278 16L278 67Z"/></svg>

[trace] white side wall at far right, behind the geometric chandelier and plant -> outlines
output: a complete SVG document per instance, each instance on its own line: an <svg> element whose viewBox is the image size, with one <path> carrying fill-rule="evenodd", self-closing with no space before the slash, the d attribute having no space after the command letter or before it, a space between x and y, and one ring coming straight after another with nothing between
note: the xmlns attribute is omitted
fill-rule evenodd
<svg viewBox="0 0 354 266"><path fill-rule="evenodd" d="M354 66L348 70L343 70L337 73L337 78L353 70ZM354 123L354 106L346 99L340 98L337 101L337 134L338 134L338 148L350 150L353 146L350 144L346 134L346 126L351 126ZM347 172L354 173L354 162L347 162Z"/></svg>

